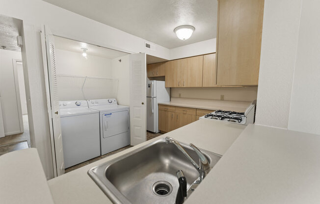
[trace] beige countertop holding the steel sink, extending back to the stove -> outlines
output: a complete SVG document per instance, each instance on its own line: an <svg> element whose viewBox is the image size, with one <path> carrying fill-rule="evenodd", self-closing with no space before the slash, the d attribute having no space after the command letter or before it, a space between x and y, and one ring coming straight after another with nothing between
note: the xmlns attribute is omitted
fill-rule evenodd
<svg viewBox="0 0 320 204"><path fill-rule="evenodd" d="M86 165L72 172L48 181L55 204L111 204L111 201L87 175L94 166L129 153L161 137L170 136L184 143L193 143L197 147L214 153L224 154L237 139L245 126L221 121L199 120L185 127L175 129L157 138L136 145L120 153ZM209 177L210 174L207 176Z"/></svg>

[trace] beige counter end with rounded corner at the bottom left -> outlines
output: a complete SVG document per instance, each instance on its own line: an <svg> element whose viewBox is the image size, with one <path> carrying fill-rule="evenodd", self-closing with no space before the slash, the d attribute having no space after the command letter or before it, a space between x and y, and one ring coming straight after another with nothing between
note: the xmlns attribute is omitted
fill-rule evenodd
<svg viewBox="0 0 320 204"><path fill-rule="evenodd" d="M0 156L0 203L53 204L36 149L24 149Z"/></svg>

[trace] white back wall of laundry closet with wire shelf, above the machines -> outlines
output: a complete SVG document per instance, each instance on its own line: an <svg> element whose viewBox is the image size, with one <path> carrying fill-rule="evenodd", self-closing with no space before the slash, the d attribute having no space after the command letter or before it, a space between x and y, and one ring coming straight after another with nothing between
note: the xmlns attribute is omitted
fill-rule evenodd
<svg viewBox="0 0 320 204"><path fill-rule="evenodd" d="M59 101L114 98L117 81L86 79L84 77L112 78L111 59L94 55L56 50ZM81 77L62 77L81 76ZM110 90L114 89L114 90Z"/></svg>

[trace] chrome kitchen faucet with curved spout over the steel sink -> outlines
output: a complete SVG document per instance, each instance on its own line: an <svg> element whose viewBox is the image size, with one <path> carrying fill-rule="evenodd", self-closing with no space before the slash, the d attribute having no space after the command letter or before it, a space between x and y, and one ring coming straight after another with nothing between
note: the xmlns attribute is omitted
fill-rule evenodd
<svg viewBox="0 0 320 204"><path fill-rule="evenodd" d="M206 174L208 174L210 171L210 164L209 164L209 161L207 160L206 156L203 153L201 153L200 150L196 146L194 146L192 143L189 144L189 146L199 156L199 165L198 165L192 159L192 157L186 152L186 150L180 145L180 143L177 140L175 140L171 137L166 137L165 141L166 141L166 143L174 144L187 157L187 159L190 161L190 163L199 172L199 180L196 180L194 183L200 183L203 180L203 178L205 178Z"/></svg>

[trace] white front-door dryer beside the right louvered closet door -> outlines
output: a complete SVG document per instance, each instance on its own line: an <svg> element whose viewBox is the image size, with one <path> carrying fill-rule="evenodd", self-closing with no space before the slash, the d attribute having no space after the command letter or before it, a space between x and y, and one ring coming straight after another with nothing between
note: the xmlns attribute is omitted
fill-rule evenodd
<svg viewBox="0 0 320 204"><path fill-rule="evenodd" d="M129 106L115 99L88 100L88 105L100 111L101 155L130 145Z"/></svg>

